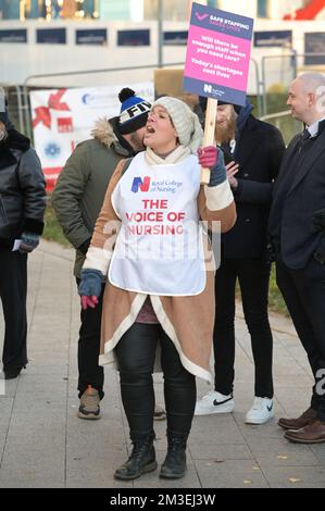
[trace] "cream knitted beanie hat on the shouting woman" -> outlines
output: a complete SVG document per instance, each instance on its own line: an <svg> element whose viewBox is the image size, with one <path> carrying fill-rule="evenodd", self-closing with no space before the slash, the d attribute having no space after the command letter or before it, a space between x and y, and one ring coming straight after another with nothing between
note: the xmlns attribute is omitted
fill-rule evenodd
<svg viewBox="0 0 325 511"><path fill-rule="evenodd" d="M196 153L203 140L203 129L198 115L184 101L170 96L155 100L152 108L158 104L168 112L182 146Z"/></svg>

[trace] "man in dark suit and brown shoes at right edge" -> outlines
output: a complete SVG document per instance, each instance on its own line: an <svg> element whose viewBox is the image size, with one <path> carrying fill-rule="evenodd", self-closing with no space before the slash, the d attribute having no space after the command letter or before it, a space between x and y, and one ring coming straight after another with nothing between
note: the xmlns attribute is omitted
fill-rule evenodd
<svg viewBox="0 0 325 511"><path fill-rule="evenodd" d="M277 285L284 296L314 376L310 408L298 419L280 419L291 441L325 441L325 77L296 78L287 104L305 130L290 142L275 185L270 233ZM322 216L322 215L321 215Z"/></svg>

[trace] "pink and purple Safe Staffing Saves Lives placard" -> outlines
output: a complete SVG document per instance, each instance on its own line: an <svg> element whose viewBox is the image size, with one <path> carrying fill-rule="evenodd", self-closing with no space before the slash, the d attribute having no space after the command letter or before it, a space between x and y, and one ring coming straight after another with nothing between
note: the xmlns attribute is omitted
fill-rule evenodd
<svg viewBox="0 0 325 511"><path fill-rule="evenodd" d="M184 90L245 104L253 20L192 4Z"/></svg>

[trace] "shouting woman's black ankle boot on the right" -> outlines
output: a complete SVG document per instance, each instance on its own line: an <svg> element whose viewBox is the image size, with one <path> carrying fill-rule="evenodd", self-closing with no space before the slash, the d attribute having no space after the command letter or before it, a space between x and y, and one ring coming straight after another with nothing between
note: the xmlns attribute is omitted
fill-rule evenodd
<svg viewBox="0 0 325 511"><path fill-rule="evenodd" d="M167 434L168 450L160 471L160 477L164 479L178 479L187 471L186 466L186 440L188 435Z"/></svg>

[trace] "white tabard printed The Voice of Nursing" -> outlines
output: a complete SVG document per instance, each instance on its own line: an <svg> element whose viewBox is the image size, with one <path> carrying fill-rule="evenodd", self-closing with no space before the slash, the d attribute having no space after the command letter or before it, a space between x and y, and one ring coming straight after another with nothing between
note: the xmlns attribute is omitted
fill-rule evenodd
<svg viewBox="0 0 325 511"><path fill-rule="evenodd" d="M203 230L199 223L200 165L149 165L137 154L112 194L122 220L109 281L160 296L199 295L205 287Z"/></svg>

